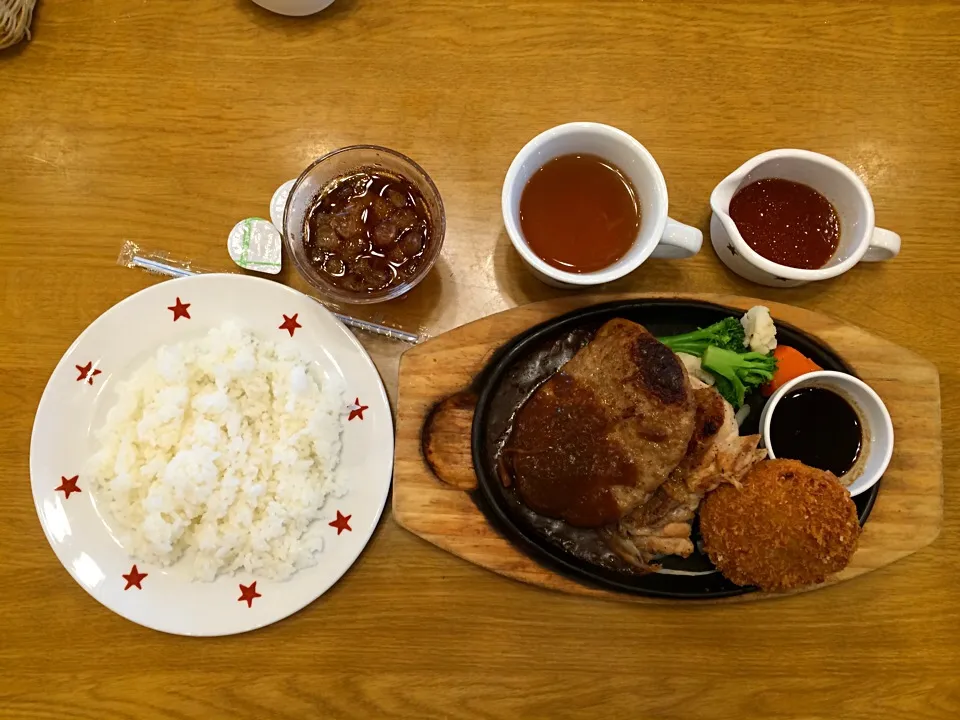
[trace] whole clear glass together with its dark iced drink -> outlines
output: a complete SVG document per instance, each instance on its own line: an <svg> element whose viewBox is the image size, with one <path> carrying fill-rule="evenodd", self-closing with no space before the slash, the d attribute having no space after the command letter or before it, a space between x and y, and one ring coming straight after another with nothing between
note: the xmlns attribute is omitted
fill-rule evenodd
<svg viewBox="0 0 960 720"><path fill-rule="evenodd" d="M297 178L283 237L297 270L325 297L375 303L408 292L440 255L445 220L436 185L413 160L353 145Z"/></svg>

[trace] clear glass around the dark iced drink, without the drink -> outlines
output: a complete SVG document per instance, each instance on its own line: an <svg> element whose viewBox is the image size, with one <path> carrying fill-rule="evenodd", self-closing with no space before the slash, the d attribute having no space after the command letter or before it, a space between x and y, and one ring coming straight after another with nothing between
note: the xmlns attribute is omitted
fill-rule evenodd
<svg viewBox="0 0 960 720"><path fill-rule="evenodd" d="M349 292L331 284L310 264L303 245L307 214L320 193L333 180L366 168L402 175L420 191L430 214L431 233L420 270L399 285L377 293ZM283 241L293 257L297 271L324 297L334 302L350 304L383 302L409 292L427 276L440 256L445 228L443 202L430 176L406 155L376 145L351 145L314 160L294 183L283 213Z"/></svg>

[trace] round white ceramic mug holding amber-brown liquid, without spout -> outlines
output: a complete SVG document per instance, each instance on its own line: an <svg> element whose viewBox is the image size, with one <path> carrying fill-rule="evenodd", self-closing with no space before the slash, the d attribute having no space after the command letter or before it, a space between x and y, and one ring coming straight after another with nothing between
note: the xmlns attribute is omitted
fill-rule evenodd
<svg viewBox="0 0 960 720"><path fill-rule="evenodd" d="M633 245L617 262L602 270L572 273L542 260L520 229L520 196L530 177L561 155L597 155L620 168L640 201L640 230ZM600 285L636 270L648 257L686 258L703 244L697 228L667 217L667 183L653 156L633 137L609 125L576 122L540 133L523 146L507 170L501 195L503 223L510 241L533 274L557 287Z"/></svg>

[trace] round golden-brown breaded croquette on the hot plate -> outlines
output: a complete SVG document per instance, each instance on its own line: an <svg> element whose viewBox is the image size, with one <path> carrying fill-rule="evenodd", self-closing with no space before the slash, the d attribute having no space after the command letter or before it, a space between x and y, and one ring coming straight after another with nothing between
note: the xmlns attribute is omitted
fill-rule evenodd
<svg viewBox="0 0 960 720"><path fill-rule="evenodd" d="M857 549L860 523L836 476L796 460L764 460L742 487L722 485L700 506L710 560L737 585L783 591L821 583Z"/></svg>

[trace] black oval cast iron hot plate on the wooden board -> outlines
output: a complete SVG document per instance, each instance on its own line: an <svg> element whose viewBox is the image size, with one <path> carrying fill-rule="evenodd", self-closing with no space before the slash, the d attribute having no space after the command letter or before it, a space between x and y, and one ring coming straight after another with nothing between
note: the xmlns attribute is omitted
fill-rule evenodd
<svg viewBox="0 0 960 720"><path fill-rule="evenodd" d="M717 572L699 551L690 558L662 560L659 573L640 574L611 553L591 531L537 515L523 505L497 474L497 455L513 414L530 393L583 347L597 329L616 317L645 326L657 336L705 327L741 311L688 300L627 300L582 308L537 325L501 348L474 387L479 399L473 419L472 453L481 510L509 540L541 564L575 580L609 590L664 598L723 598L753 592ZM776 318L774 318L776 320ZM811 358L824 370L853 373L830 348L790 325L777 322L777 339ZM751 412L743 434L759 432L766 399L748 398ZM862 525L880 484L854 498ZM699 539L694 525L694 540Z"/></svg>

